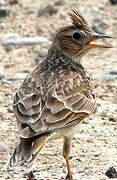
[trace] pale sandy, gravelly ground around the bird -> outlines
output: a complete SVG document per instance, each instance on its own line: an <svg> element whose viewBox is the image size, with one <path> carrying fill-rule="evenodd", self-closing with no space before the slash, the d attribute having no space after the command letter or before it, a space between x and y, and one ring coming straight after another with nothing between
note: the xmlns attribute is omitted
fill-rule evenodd
<svg viewBox="0 0 117 180"><path fill-rule="evenodd" d="M10 15L0 18L0 42L10 33L19 37L42 36L51 42L55 31L70 23L67 13L72 8L80 9L83 15L102 31L115 38L108 40L112 49L98 50L84 57L83 64L92 74L97 96L98 112L86 119L78 129L71 148L71 164L74 180L107 180L109 167L117 169L117 5L108 0L66 0L58 5L51 0L19 0L19 4L4 5ZM59 2L59 1L58 1ZM53 14L37 17L43 4L52 5ZM16 120L12 109L13 96L27 72L35 66L35 57L43 56L50 43L36 46L16 46L5 49L0 46L0 142L13 148L18 139ZM110 74L110 72L113 73ZM109 78L108 78L109 77ZM60 180L65 177L66 166L62 157L62 140L49 142L40 153L35 168L38 180ZM0 179L25 180L20 168L7 173L7 152L0 152Z"/></svg>

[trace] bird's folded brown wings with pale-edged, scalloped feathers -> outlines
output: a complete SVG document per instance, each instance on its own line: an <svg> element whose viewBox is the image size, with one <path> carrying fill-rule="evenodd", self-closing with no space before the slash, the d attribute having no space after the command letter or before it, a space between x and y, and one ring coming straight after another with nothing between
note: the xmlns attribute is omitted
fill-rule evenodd
<svg viewBox="0 0 117 180"><path fill-rule="evenodd" d="M77 72L61 71L51 88L46 89L46 96L35 93L34 88L30 91L29 87L28 91L26 87L25 90L20 88L14 98L14 111L21 136L25 136L27 130L30 136L64 128L95 112L92 84L86 77L84 80L83 75Z"/></svg>

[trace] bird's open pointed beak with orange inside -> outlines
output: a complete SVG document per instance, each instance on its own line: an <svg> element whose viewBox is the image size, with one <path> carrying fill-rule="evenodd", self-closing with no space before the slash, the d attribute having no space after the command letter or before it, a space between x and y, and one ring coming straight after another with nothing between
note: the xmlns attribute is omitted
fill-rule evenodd
<svg viewBox="0 0 117 180"><path fill-rule="evenodd" d="M96 48L112 48L112 46L108 45L101 45L101 44L93 44L92 42L98 39L106 39L106 38L112 38L111 36L106 35L93 35L91 39L85 44L87 47L96 47Z"/></svg>

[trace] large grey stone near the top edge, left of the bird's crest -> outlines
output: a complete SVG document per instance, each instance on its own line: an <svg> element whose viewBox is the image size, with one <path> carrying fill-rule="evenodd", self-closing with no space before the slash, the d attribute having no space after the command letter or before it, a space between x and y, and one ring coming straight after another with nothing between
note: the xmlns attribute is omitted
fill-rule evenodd
<svg viewBox="0 0 117 180"><path fill-rule="evenodd" d="M57 13L57 9L52 4L43 4L37 11L37 16L43 16L45 14L53 15Z"/></svg>

